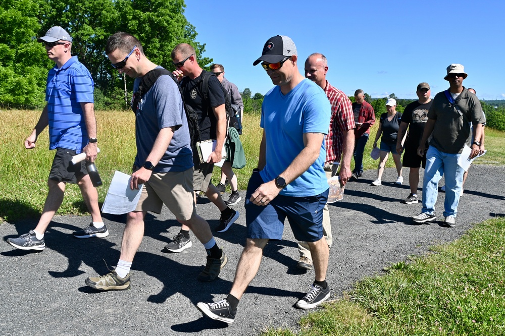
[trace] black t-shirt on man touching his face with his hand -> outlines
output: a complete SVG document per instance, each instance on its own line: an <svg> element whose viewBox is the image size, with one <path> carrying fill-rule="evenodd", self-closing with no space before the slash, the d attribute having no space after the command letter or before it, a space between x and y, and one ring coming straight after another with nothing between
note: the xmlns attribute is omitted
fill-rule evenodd
<svg viewBox="0 0 505 336"><path fill-rule="evenodd" d="M184 102L198 115L201 140L216 139L217 120L212 108L225 103L223 87L216 76L209 78L209 99L204 99L201 87L205 73L203 70L195 79L186 77L181 82Z"/></svg>

